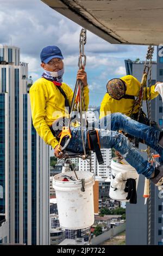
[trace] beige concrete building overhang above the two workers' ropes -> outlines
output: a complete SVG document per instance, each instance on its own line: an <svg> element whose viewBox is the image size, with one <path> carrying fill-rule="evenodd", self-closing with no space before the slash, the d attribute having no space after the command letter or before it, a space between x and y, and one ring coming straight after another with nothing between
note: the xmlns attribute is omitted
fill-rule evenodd
<svg viewBox="0 0 163 256"><path fill-rule="evenodd" d="M163 42L162 0L41 0L111 44Z"/></svg>

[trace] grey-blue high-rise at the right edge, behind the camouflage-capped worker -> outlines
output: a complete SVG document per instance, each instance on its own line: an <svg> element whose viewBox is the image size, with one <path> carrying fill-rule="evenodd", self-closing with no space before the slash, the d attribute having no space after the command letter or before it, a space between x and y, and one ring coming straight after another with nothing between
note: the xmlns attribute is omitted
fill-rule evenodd
<svg viewBox="0 0 163 256"><path fill-rule="evenodd" d="M159 50L159 49L158 49ZM159 51L157 51L158 53ZM163 81L163 61L162 57L157 54L157 62L152 62L152 84L156 81ZM141 81L143 74L144 62L125 60L126 70L128 75L135 76ZM148 80L149 82L149 80ZM162 122L162 99L160 96L151 101L152 120L156 121L160 127L163 127ZM146 102L143 103L143 110L146 112ZM140 143L139 150L147 148ZM142 153L143 157L147 157ZM148 244L148 205L144 204L143 189L145 178L140 175L139 185L137 188L137 204L126 204L126 244L127 245L147 245ZM151 184L151 244L163 245L163 215L162 215L162 192L158 191L153 184Z"/></svg>

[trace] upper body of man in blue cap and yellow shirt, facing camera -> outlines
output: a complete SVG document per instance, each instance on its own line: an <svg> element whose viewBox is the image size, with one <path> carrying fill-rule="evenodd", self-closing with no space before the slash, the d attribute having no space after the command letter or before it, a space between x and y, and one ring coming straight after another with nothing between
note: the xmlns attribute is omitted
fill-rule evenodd
<svg viewBox="0 0 163 256"><path fill-rule="evenodd" d="M53 133L52 124L58 119L63 120L69 117L73 91L66 83L62 82L64 75L62 59L64 57L59 47L47 46L43 48L40 58L44 72L29 90L33 125L40 137L55 149L54 154L59 157L59 142ZM87 110L89 88L87 87L86 72L78 70L77 79L83 82L85 109ZM57 123L56 126L58 125Z"/></svg>

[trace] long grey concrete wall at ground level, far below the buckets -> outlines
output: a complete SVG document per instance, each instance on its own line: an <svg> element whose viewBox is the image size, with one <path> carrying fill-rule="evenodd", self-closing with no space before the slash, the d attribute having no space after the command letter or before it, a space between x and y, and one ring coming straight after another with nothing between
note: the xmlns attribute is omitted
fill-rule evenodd
<svg viewBox="0 0 163 256"><path fill-rule="evenodd" d="M118 227L111 228L108 231L104 232L103 234L98 235L95 238L91 239L91 245L99 245L99 243L111 239L113 236L116 236L117 234L121 233L124 230L126 230L126 223L123 223Z"/></svg>

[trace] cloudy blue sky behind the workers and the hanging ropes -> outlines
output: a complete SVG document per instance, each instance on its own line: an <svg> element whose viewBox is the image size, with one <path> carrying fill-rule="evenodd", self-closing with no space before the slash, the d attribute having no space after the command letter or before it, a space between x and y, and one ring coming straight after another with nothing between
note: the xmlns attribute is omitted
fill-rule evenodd
<svg viewBox="0 0 163 256"><path fill-rule="evenodd" d="M64 56L63 80L73 89L82 27L40 0L0 0L0 7L0 44L20 47L21 61L29 63L29 76L32 76L33 81L42 74L42 48L57 45ZM111 45L87 31L85 71L90 89L90 105L101 104L106 93L106 83L111 78L126 75L124 59L144 60L146 52L147 46Z"/></svg>

